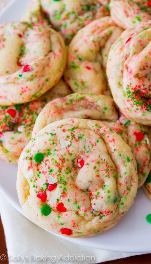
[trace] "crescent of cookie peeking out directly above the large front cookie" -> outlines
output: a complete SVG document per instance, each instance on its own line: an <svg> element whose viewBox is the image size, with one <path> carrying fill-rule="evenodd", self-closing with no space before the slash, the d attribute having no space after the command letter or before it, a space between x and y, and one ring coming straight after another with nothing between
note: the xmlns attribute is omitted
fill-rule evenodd
<svg viewBox="0 0 151 264"><path fill-rule="evenodd" d="M75 93L48 103L40 112L32 137L46 125L65 118L102 119L116 121L113 99L106 95Z"/></svg>

